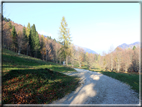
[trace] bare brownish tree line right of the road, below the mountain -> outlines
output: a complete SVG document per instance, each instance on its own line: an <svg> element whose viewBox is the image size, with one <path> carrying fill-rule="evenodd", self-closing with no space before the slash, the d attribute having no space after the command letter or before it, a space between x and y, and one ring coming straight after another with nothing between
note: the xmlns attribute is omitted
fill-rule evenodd
<svg viewBox="0 0 142 107"><path fill-rule="evenodd" d="M139 72L140 47L122 49L117 47L114 51L110 48L109 53L100 58L99 64L105 70L115 72Z"/></svg>

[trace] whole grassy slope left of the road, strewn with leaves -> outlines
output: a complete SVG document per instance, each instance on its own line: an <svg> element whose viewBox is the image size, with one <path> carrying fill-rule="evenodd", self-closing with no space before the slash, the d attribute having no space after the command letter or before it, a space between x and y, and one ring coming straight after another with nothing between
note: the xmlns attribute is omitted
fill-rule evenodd
<svg viewBox="0 0 142 107"><path fill-rule="evenodd" d="M2 103L49 104L62 98L75 90L79 81L79 78L64 75L63 72L76 71L3 49Z"/></svg>

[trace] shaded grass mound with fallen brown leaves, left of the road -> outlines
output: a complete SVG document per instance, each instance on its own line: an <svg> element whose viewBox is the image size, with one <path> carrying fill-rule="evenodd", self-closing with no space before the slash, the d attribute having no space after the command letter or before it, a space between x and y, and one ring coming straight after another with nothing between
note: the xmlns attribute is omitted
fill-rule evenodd
<svg viewBox="0 0 142 107"><path fill-rule="evenodd" d="M2 76L2 83L3 104L44 104L73 90L78 80L55 71L27 69L9 71Z"/></svg>

